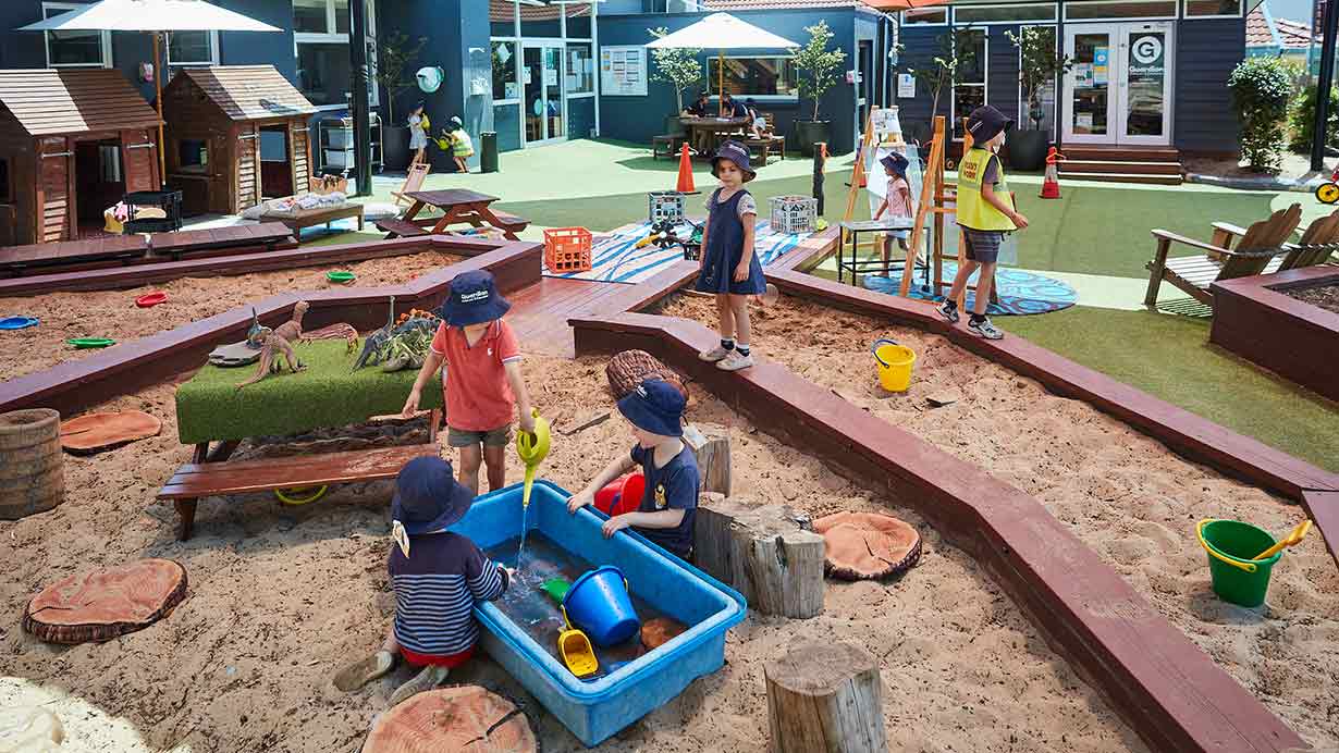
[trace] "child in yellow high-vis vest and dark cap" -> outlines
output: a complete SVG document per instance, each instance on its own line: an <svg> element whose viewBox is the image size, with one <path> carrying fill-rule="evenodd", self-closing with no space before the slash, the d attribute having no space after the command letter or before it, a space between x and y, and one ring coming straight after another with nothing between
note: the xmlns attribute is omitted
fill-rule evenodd
<svg viewBox="0 0 1339 753"><path fill-rule="evenodd" d="M980 269L981 276L976 282L976 296L972 300L972 316L967 329L987 340L1004 337L1004 333L986 317L1000 241L1006 233L1027 227L1027 218L1014 209L1014 197L1008 193L1008 183L1004 182L1004 167L995 154L1004 146L1004 132L1012 126L1014 120L990 104L977 107L967 118L972 148L967 150L957 166L957 225L963 229L963 241L967 245L967 263L957 270L953 288L939 308L940 316L956 322L957 297L963 294L972 273Z"/></svg>

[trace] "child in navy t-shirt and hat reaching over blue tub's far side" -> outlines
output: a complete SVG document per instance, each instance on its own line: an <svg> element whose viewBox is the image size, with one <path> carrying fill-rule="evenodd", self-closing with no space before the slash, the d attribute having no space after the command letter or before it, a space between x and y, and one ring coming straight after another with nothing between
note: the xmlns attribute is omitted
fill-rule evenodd
<svg viewBox="0 0 1339 753"><path fill-rule="evenodd" d="M641 506L604 523L604 538L632 526L639 534L683 559L692 556L692 523L698 512L698 459L683 443L683 395L667 381L644 380L619 400L619 412L632 424L637 444L615 457L568 500L568 512L595 502L603 490L635 465L647 480Z"/></svg>

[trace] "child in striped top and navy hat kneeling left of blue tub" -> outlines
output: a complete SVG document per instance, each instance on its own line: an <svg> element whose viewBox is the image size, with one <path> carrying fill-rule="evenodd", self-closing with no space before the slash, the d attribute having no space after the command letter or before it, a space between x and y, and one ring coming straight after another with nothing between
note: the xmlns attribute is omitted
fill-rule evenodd
<svg viewBox="0 0 1339 753"><path fill-rule="evenodd" d="M474 654L479 637L474 603L501 597L511 576L474 542L446 531L473 500L441 457L415 457L400 468L391 500L395 546L387 559L395 619L382 649L341 669L335 675L336 687L358 690L391 671L400 655L423 669L391 694L390 705L395 706L437 687Z"/></svg>

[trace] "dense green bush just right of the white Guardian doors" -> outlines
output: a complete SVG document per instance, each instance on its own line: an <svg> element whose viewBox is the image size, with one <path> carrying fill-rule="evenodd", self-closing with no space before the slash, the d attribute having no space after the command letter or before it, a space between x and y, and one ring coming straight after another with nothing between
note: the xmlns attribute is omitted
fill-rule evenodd
<svg viewBox="0 0 1339 753"><path fill-rule="evenodd" d="M1247 58L1228 76L1232 107L1241 123L1241 156L1257 173L1279 170L1283 122L1292 98L1292 75L1277 58Z"/></svg>

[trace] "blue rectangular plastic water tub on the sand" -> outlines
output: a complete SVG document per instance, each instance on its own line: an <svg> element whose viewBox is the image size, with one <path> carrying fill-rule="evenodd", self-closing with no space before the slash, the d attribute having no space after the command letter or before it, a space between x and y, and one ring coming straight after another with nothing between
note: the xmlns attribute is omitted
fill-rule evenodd
<svg viewBox="0 0 1339 753"><path fill-rule="evenodd" d="M542 531L569 552L595 566L617 566L633 594L656 610L691 626L664 646L609 674L577 679L548 650L526 635L493 603L474 609L483 626L481 645L545 709L588 746L670 702L698 677L726 661L726 631L747 611L738 591L665 552L640 535L619 532L605 539L605 515L589 507L569 515L568 492L536 481L526 527ZM490 548L520 535L521 484L474 500L453 531Z"/></svg>

